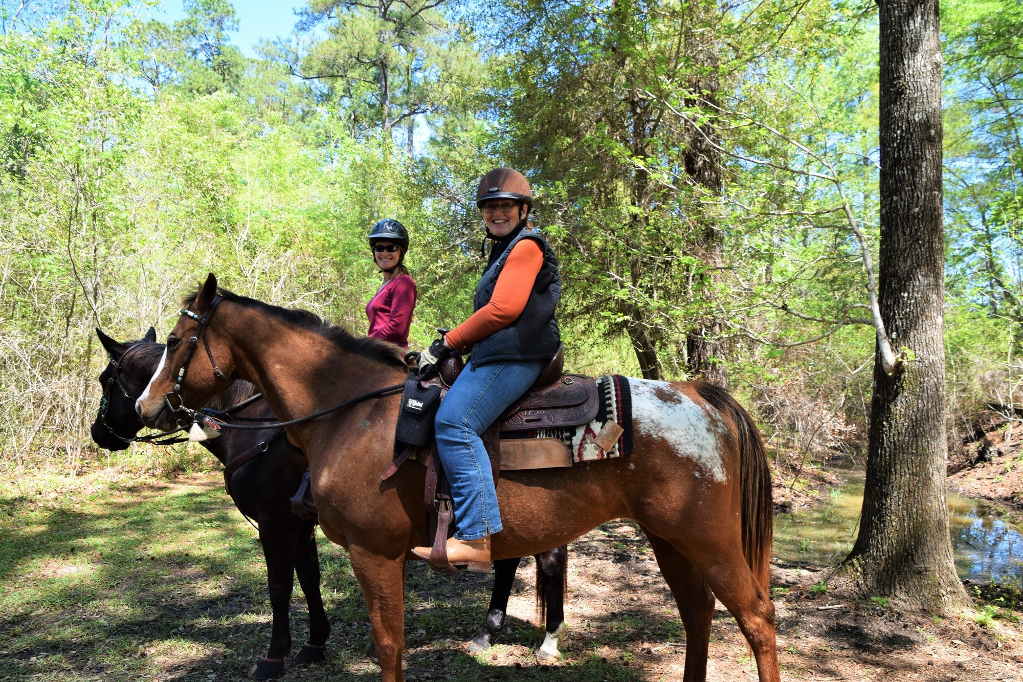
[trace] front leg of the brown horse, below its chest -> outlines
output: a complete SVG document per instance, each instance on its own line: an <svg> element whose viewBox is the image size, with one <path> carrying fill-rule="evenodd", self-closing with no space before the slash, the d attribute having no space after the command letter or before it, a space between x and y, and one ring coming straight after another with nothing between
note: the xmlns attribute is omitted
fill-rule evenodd
<svg viewBox="0 0 1023 682"><path fill-rule="evenodd" d="M389 559L350 544L348 556L362 588L383 682L402 682L405 650L405 555Z"/></svg>

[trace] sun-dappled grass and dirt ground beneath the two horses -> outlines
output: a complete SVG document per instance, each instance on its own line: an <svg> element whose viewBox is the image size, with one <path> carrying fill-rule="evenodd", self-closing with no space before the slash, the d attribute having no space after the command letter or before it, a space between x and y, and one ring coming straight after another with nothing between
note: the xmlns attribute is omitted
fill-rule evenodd
<svg viewBox="0 0 1023 682"><path fill-rule="evenodd" d="M0 679L242 679L268 642L270 610L255 531L223 494L220 473L68 480L0 496ZM347 555L322 537L319 547L333 629L328 660L290 667L284 679L379 679ZM828 592L826 579L774 566L784 680L1023 680L1021 613L1007 602L985 610L978 601L952 617L905 613L883 599ZM462 652L483 623L491 584L410 564L408 679L681 679L681 622L633 523L608 523L572 543L569 638L557 665L535 659L543 634L531 559L522 562L500 643L477 656ZM988 599L1019 596L984 588ZM292 623L297 650L306 632L298 591ZM745 640L720 605L708 679L755 679Z"/></svg>

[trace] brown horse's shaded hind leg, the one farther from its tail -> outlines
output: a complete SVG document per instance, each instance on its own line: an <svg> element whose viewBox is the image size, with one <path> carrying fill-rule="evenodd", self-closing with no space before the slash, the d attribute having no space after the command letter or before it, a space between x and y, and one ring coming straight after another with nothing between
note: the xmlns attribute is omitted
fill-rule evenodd
<svg viewBox="0 0 1023 682"><path fill-rule="evenodd" d="M684 682L703 682L707 679L714 594L700 571L671 543L646 528L642 530L654 548L657 565L678 604L678 614L685 628L685 670L682 679Z"/></svg>

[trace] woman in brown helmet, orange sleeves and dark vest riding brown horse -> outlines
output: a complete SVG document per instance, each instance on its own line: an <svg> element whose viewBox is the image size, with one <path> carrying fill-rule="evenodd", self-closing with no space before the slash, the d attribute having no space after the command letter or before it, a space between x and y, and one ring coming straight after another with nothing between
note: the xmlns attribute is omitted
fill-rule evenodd
<svg viewBox="0 0 1023 682"><path fill-rule="evenodd" d="M558 351L558 259L528 226L533 193L522 173L497 168L476 191L490 259L476 287L475 312L422 352L426 372L454 352L472 352L435 420L437 451L451 485L456 531L448 560L490 569L490 536L501 529L497 492L482 434L536 381ZM413 552L430 556L429 547Z"/></svg>

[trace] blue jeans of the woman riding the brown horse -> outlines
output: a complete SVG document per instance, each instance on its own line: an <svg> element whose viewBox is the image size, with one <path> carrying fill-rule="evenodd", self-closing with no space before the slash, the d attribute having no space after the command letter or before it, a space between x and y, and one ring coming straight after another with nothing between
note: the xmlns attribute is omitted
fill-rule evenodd
<svg viewBox="0 0 1023 682"><path fill-rule="evenodd" d="M437 411L437 452L451 484L458 540L501 529L490 458L480 437L540 376L539 360L470 361Z"/></svg>

